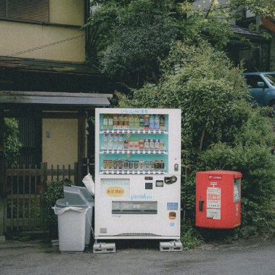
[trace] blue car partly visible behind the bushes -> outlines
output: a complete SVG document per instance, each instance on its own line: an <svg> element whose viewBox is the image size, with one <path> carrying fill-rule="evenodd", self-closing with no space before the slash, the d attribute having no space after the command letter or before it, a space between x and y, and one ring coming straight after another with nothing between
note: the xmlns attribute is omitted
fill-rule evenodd
<svg viewBox="0 0 275 275"><path fill-rule="evenodd" d="M243 76L259 106L271 106L275 111L275 72L244 73Z"/></svg>

